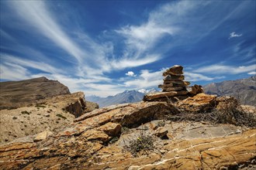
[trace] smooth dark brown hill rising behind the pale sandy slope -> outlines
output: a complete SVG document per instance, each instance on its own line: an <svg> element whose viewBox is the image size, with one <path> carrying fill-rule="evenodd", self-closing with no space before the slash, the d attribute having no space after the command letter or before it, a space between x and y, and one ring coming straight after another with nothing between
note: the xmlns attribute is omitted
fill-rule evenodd
<svg viewBox="0 0 256 170"><path fill-rule="evenodd" d="M48 80L46 77L0 82L0 110L26 107L37 100L69 93L68 88L62 83Z"/></svg>

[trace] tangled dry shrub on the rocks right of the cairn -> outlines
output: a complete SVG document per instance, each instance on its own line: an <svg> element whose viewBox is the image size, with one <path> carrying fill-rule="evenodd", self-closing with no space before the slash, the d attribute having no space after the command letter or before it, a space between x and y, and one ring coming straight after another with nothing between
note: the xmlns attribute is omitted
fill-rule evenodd
<svg viewBox="0 0 256 170"><path fill-rule="evenodd" d="M168 103L170 106L171 102ZM191 112L176 108L166 119L171 121L207 121L212 124L235 124L238 126L256 127L256 114L244 111L240 102L234 97L218 97L216 104L207 112Z"/></svg>

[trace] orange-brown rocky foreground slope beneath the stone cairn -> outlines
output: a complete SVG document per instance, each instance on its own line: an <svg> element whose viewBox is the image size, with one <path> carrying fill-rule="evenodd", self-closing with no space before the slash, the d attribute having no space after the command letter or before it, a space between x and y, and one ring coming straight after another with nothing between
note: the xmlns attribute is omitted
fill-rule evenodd
<svg viewBox="0 0 256 170"><path fill-rule="evenodd" d="M83 114L43 141L1 145L0 168L253 169L254 116L232 97L204 93L175 104L119 104Z"/></svg>

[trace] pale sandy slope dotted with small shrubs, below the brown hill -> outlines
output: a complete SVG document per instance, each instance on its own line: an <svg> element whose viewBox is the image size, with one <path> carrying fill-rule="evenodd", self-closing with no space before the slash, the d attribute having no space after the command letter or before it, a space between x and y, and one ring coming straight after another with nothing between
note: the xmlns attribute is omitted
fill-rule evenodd
<svg viewBox="0 0 256 170"><path fill-rule="evenodd" d="M50 131L60 131L75 117L98 106L95 104L95 107L93 105L88 107L85 104L84 93L78 92L43 99L37 104L30 104L29 107L0 110L0 143L36 135L47 128Z"/></svg>

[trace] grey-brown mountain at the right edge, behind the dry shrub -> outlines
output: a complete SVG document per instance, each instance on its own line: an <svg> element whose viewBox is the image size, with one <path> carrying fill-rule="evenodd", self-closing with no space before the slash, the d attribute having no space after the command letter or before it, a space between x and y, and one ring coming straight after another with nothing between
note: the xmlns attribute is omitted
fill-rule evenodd
<svg viewBox="0 0 256 170"><path fill-rule="evenodd" d="M247 79L209 83L203 89L208 94L232 96L240 100L241 104L256 106L256 76Z"/></svg>

